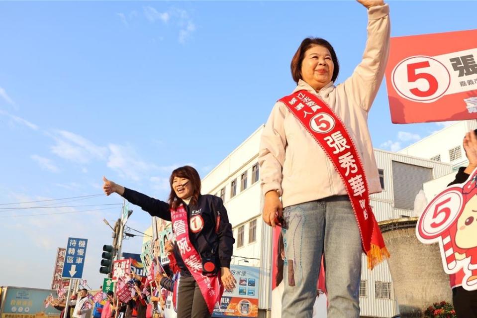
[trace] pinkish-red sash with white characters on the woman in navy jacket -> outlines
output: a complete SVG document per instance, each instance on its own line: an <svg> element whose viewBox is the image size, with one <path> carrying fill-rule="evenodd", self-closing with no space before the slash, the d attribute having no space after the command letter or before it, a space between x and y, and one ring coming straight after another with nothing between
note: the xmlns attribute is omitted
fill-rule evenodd
<svg viewBox="0 0 477 318"><path fill-rule="evenodd" d="M220 304L220 299L223 293L223 286L218 277L218 274L213 277L208 277L202 274L202 259L191 244L189 239L189 224L187 220L187 211L183 205L180 205L176 210L171 209L172 226L176 234L176 244L181 253L184 264L192 274L192 277L197 282L200 292L207 304L209 313L212 314L217 303Z"/></svg>

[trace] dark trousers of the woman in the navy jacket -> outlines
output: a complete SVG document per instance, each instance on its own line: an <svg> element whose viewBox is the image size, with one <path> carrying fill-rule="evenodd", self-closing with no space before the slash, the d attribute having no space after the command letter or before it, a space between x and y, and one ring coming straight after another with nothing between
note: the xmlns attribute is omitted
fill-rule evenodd
<svg viewBox="0 0 477 318"><path fill-rule="evenodd" d="M207 304L193 277L181 277L177 318L210 318Z"/></svg>

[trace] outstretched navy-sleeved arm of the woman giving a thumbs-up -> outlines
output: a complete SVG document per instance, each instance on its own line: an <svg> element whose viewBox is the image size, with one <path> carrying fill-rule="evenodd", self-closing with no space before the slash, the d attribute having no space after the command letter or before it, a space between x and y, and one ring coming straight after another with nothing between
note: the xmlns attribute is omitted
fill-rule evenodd
<svg viewBox="0 0 477 318"><path fill-rule="evenodd" d="M142 210L151 214L151 216L158 216L166 221L171 220L171 212L169 210L169 204L146 196L140 192L124 188L110 180L103 177L103 190L104 193L109 196L111 193L117 193L122 196L128 202L141 207Z"/></svg>

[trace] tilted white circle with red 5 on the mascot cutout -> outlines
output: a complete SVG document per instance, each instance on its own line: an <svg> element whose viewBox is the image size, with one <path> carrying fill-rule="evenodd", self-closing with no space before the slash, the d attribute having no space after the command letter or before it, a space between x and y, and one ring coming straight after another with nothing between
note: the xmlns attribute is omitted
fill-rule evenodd
<svg viewBox="0 0 477 318"><path fill-rule="evenodd" d="M436 238L454 223L464 208L461 191L455 188L446 190L426 207L418 225L419 235L422 238Z"/></svg>

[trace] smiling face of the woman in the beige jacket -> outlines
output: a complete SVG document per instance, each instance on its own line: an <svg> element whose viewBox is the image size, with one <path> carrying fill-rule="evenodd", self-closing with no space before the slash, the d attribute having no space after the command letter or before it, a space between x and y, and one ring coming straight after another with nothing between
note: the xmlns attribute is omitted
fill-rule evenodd
<svg viewBox="0 0 477 318"><path fill-rule="evenodd" d="M316 91L331 82L333 70L331 53L326 47L313 45L306 50L301 62L301 77Z"/></svg>

